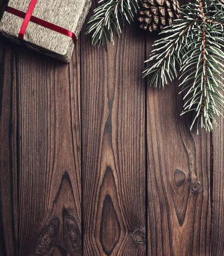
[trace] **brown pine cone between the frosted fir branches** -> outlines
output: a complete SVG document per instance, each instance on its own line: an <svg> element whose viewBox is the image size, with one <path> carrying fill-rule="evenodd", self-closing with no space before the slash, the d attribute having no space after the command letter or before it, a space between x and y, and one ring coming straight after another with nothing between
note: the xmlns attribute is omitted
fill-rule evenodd
<svg viewBox="0 0 224 256"><path fill-rule="evenodd" d="M174 19L181 17L178 0L143 0L143 8L139 11L140 28L161 31L164 26L171 25Z"/></svg>

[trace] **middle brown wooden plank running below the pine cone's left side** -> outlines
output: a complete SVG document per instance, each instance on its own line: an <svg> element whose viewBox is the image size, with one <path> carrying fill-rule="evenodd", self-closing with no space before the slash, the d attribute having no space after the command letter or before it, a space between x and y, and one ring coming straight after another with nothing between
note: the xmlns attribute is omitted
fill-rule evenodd
<svg viewBox="0 0 224 256"><path fill-rule="evenodd" d="M93 9L91 10L91 14ZM85 30L85 29L84 29ZM144 36L82 38L83 254L146 255Z"/></svg>

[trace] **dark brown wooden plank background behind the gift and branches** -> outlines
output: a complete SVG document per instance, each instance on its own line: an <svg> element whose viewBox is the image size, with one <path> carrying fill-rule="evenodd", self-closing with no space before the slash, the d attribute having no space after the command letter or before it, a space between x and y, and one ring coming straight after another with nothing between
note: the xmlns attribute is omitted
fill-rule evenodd
<svg viewBox="0 0 224 256"><path fill-rule="evenodd" d="M0 36L0 256L224 256L224 120L146 86L138 24L85 31L70 64Z"/></svg>

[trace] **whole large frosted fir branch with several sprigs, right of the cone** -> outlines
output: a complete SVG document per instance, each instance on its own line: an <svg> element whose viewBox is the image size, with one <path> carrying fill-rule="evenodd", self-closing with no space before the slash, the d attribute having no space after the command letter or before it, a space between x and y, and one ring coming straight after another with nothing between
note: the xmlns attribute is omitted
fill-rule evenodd
<svg viewBox="0 0 224 256"><path fill-rule="evenodd" d="M179 66L185 94L182 114L193 111L191 128L200 121L211 131L216 116L224 112L224 1L196 0L182 12L183 18L165 28L164 38L154 44L143 77L150 74L150 85L164 87L173 73L177 76Z"/></svg>

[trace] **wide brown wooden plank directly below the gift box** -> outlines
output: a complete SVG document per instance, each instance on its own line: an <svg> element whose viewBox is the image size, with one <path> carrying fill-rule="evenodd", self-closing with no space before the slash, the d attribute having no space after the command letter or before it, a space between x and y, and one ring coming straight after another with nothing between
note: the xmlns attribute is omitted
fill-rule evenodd
<svg viewBox="0 0 224 256"><path fill-rule="evenodd" d="M78 49L70 65L17 56L21 256L82 254Z"/></svg>

